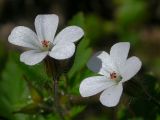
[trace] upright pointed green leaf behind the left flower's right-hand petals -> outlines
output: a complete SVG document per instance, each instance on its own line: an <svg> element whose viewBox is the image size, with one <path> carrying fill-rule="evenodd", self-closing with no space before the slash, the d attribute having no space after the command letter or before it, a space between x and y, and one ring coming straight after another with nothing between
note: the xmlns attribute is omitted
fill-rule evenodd
<svg viewBox="0 0 160 120"><path fill-rule="evenodd" d="M69 22L71 25L78 25L81 26L82 29L85 30L85 23L84 23L84 16L82 13L78 13L75 15L72 20ZM80 71L82 68L85 67L91 53L92 49L89 47L90 40L84 36L84 38L80 41L76 55L75 55L75 61L73 64L73 67L68 73L69 79L71 79L78 71Z"/></svg>

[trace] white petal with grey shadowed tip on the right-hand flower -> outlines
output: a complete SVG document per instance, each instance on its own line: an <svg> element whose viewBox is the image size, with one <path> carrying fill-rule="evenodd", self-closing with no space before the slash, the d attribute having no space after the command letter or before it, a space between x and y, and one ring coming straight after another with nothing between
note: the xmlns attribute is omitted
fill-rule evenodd
<svg viewBox="0 0 160 120"><path fill-rule="evenodd" d="M96 53L87 63L89 69L101 75L108 76L111 72L116 72L116 67L108 53L101 51Z"/></svg>

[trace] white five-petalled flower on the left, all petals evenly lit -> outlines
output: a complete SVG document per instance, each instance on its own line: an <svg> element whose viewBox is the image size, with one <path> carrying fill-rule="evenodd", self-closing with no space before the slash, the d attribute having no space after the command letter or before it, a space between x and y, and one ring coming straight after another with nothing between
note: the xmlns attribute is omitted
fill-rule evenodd
<svg viewBox="0 0 160 120"><path fill-rule="evenodd" d="M37 15L34 23L37 34L24 26L12 30L8 38L10 43L32 49L22 53L20 61L35 65L47 55L58 60L73 56L74 42L78 41L84 32L80 27L68 26L54 37L58 21L59 18L55 14Z"/></svg>

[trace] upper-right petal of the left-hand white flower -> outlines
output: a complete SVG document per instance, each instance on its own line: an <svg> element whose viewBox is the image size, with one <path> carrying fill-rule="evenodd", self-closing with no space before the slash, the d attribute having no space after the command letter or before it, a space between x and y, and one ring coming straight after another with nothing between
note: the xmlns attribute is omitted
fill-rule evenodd
<svg viewBox="0 0 160 120"><path fill-rule="evenodd" d="M76 42L84 35L83 30L78 26L68 26L55 37L54 44L59 42Z"/></svg>

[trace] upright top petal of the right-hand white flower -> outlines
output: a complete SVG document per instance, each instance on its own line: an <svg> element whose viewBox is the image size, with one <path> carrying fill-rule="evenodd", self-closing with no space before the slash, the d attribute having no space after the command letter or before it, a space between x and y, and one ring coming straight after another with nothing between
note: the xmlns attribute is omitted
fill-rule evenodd
<svg viewBox="0 0 160 120"><path fill-rule="evenodd" d="M129 42L119 42L112 46L110 51L110 56L112 57L118 69L123 67L123 65L125 64L129 49L130 49Z"/></svg>

